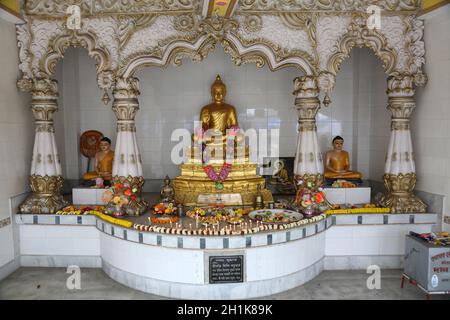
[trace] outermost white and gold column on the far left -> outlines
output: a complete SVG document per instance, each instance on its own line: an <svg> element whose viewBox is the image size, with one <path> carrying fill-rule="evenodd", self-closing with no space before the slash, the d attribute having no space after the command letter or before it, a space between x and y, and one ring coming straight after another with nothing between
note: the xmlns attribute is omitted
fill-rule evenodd
<svg viewBox="0 0 450 320"><path fill-rule="evenodd" d="M61 195L64 179L53 126L53 113L58 110L58 85L55 80L34 79L28 86L21 89L31 92L36 125L30 171L32 194L19 208L22 213L55 213L67 205Z"/></svg>

